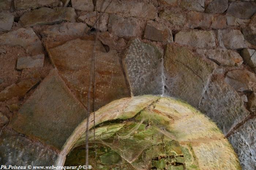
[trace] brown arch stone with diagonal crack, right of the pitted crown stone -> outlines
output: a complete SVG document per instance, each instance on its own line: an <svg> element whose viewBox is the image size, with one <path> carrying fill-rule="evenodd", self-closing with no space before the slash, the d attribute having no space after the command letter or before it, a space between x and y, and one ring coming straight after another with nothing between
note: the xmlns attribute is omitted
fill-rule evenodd
<svg viewBox="0 0 256 170"><path fill-rule="evenodd" d="M215 68L215 63L194 56L188 48L167 44L164 56L165 93L198 107Z"/></svg>

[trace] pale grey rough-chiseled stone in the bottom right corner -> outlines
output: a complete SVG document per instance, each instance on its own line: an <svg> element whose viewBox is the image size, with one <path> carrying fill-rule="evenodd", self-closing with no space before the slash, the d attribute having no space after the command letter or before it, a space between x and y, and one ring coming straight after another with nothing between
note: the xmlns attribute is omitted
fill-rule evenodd
<svg viewBox="0 0 256 170"><path fill-rule="evenodd" d="M238 154L242 169L256 169L256 118L247 120L239 127L234 134L231 134L229 141Z"/></svg>

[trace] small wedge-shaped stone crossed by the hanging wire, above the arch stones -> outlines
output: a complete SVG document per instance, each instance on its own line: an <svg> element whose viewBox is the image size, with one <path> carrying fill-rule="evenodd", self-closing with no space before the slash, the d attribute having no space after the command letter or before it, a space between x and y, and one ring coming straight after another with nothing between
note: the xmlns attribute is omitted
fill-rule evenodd
<svg viewBox="0 0 256 170"><path fill-rule="evenodd" d="M82 15L78 17L78 20L84 21L89 26L96 28L96 11L89 12L86 15ZM107 31L108 30L108 20L109 15L107 13L98 13L98 21L97 21L97 27L100 31Z"/></svg>

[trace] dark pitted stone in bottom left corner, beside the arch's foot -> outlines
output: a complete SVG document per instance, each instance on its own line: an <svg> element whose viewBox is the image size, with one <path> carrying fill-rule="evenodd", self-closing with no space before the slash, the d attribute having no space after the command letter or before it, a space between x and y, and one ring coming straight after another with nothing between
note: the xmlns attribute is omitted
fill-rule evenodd
<svg viewBox="0 0 256 170"><path fill-rule="evenodd" d="M7 167L8 165L32 167L57 165L56 151L6 128L0 138L0 150L0 163Z"/></svg>

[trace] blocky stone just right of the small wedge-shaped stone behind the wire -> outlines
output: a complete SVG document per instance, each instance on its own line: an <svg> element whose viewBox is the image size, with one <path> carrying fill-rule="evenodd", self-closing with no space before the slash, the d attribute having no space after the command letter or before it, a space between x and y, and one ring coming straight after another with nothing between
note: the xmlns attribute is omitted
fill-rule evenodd
<svg viewBox="0 0 256 170"><path fill-rule="evenodd" d="M140 20L134 17L124 18L118 14L109 15L109 33L119 36L139 36Z"/></svg>

